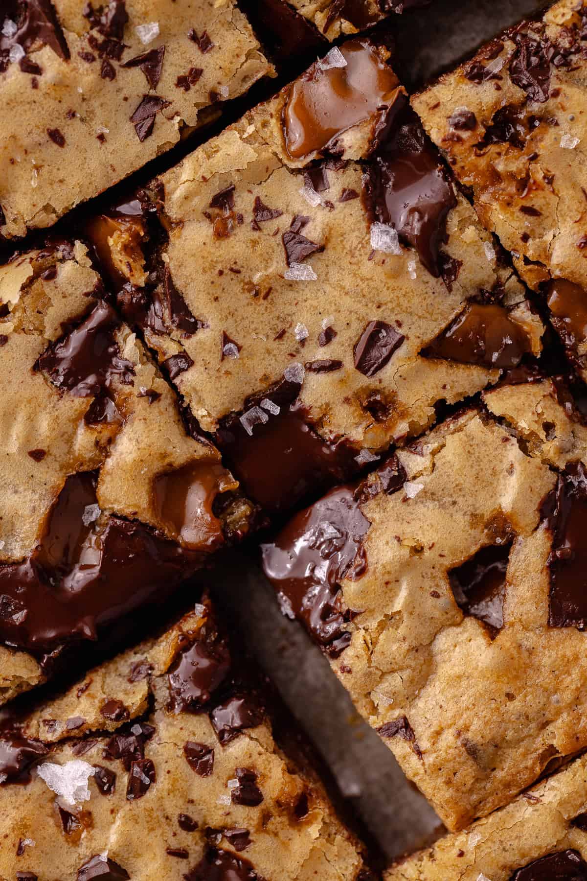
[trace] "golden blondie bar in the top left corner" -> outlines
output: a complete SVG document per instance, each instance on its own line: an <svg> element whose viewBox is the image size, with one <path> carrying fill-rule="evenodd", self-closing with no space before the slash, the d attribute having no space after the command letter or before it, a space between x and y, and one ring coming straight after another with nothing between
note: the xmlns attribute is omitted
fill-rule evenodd
<svg viewBox="0 0 587 881"><path fill-rule="evenodd" d="M23 8L38 5L30 0ZM6 237L55 223L169 149L182 130L216 113L219 102L272 73L232 0L112 0L94 4L89 17L77 0L47 5L57 24L46 42L34 28L12 40L19 21L11 19L11 3L0 22L0 234ZM151 33L144 30L153 24ZM155 57L141 66L144 53Z"/></svg>

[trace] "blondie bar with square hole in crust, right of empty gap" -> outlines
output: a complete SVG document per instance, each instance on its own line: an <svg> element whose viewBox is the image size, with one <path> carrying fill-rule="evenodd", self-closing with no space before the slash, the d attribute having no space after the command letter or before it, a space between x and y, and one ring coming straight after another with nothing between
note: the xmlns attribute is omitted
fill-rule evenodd
<svg viewBox="0 0 587 881"><path fill-rule="evenodd" d="M283 611L450 829L587 744L584 635L551 624L561 545L545 507L554 468L587 462L584 428L549 380L484 403L503 424L449 419L397 451L391 480L332 493L264 552Z"/></svg>

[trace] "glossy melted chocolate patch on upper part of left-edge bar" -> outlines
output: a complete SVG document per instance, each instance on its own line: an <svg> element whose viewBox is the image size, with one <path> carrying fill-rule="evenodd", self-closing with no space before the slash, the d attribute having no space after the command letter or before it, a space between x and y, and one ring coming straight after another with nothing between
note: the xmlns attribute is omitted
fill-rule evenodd
<svg viewBox="0 0 587 881"><path fill-rule="evenodd" d="M76 397L99 395L110 387L114 376L131 384L135 368L121 358L114 337L120 323L114 309L99 300L76 329L48 346L35 368L48 374L58 389Z"/></svg>

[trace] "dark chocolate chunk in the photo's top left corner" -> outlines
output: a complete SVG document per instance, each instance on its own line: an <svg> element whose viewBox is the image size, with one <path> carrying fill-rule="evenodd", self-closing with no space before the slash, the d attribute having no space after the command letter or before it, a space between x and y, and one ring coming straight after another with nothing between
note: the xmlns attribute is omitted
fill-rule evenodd
<svg viewBox="0 0 587 881"><path fill-rule="evenodd" d="M5 0L0 10L0 27L5 19L14 22L17 31L10 37L0 31L0 60L8 56L12 46L21 46L28 52L37 42L53 49L60 58L70 57L70 49L49 0Z"/></svg>

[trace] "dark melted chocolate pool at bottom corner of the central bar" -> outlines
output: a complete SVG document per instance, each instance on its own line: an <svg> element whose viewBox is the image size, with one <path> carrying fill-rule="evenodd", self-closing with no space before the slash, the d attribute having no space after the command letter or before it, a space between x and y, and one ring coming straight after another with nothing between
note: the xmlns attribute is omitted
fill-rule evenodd
<svg viewBox="0 0 587 881"><path fill-rule="evenodd" d="M308 412L296 400L299 388L283 381L255 396L242 416L224 420L216 433L246 494L269 512L287 510L318 487L347 480L358 470L356 452L341 441L324 441L308 424ZM279 413L260 407L263 400L278 406Z"/></svg>

